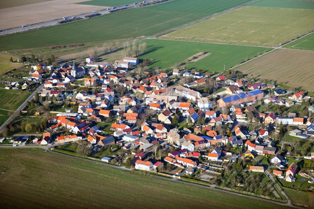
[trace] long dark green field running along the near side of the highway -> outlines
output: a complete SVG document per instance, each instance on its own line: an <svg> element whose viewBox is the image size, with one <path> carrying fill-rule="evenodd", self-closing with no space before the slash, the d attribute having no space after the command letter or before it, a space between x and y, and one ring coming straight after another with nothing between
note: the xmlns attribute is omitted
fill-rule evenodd
<svg viewBox="0 0 314 209"><path fill-rule="evenodd" d="M91 19L2 36L0 37L0 51L154 35L203 18L211 13L224 11L247 2L247 0L224 0L223 6L218 8L216 6L217 0L209 1L205 5L205 8L208 8L207 13L194 12L192 9L187 12L176 11L175 8L173 10L160 8L164 5L170 4L171 6L180 2L174 0L147 8L131 8ZM185 1L185 4L189 5L189 2ZM134 25L134 23L136 24ZM65 35L67 31L71 35Z"/></svg>

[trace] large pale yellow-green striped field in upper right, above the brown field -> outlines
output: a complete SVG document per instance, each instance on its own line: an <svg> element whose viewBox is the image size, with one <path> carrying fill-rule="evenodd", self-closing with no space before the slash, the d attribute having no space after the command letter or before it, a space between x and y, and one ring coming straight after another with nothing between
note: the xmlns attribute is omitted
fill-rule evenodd
<svg viewBox="0 0 314 209"><path fill-rule="evenodd" d="M279 46L313 29L313 9L242 7L178 29L165 38Z"/></svg>

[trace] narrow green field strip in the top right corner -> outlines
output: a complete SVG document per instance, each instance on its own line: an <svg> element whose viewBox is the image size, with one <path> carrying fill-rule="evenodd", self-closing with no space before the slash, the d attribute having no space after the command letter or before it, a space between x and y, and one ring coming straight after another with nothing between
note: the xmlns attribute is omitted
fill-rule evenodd
<svg viewBox="0 0 314 209"><path fill-rule="evenodd" d="M291 0L260 0L260 1L249 4L249 6L293 8L293 9L314 9L314 2L291 1Z"/></svg>

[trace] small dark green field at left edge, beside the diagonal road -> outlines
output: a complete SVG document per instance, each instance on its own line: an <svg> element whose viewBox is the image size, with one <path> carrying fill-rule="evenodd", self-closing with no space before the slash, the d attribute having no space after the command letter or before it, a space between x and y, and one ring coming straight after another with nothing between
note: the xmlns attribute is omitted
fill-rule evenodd
<svg viewBox="0 0 314 209"><path fill-rule="evenodd" d="M0 106L6 110L16 110L30 94L28 91L0 89Z"/></svg>

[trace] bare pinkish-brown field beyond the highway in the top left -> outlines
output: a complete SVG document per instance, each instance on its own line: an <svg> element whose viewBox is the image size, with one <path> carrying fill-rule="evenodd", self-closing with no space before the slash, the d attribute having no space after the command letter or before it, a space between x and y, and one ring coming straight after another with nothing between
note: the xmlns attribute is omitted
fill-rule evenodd
<svg viewBox="0 0 314 209"><path fill-rule="evenodd" d="M16 28L107 8L75 4L78 2L82 0L52 0L0 9L0 29Z"/></svg>

